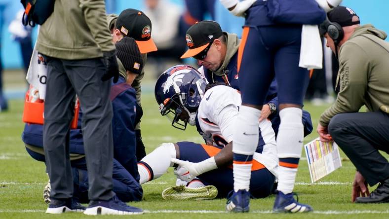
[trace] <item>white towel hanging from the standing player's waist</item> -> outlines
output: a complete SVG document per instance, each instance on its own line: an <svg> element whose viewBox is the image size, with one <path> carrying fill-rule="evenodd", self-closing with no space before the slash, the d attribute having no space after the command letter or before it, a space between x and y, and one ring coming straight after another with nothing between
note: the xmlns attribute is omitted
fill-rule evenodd
<svg viewBox="0 0 389 219"><path fill-rule="evenodd" d="M308 70L323 68L323 46L317 25L303 25L299 67Z"/></svg>

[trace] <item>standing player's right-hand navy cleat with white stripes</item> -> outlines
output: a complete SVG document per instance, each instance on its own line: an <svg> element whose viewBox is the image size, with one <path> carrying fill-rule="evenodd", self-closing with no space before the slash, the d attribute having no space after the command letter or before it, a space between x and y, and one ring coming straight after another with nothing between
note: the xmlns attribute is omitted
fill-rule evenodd
<svg viewBox="0 0 389 219"><path fill-rule="evenodd" d="M297 201L294 199L293 195L296 195ZM274 213L306 213L313 211L312 207L309 205L304 205L298 202L299 197L296 193L291 192L284 194L281 191L278 191L277 196L275 197L273 212Z"/></svg>

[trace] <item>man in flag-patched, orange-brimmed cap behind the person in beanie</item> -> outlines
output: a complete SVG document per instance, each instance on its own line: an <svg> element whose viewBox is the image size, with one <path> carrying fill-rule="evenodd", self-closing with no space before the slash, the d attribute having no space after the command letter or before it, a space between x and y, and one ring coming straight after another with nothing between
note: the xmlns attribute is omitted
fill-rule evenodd
<svg viewBox="0 0 389 219"><path fill-rule="evenodd" d="M147 53L157 50L156 44L151 38L152 23L145 13L140 10L128 8L123 10L118 16L116 14L107 15L108 27L111 30L113 42L116 43L123 37L134 38L142 54L143 65L146 65ZM125 74L119 63L119 72ZM141 105L141 80L145 75L145 68L133 80L131 86L136 90L137 109L142 111ZM142 142L140 122L135 128L137 139L136 155L138 161L146 156L145 146Z"/></svg>

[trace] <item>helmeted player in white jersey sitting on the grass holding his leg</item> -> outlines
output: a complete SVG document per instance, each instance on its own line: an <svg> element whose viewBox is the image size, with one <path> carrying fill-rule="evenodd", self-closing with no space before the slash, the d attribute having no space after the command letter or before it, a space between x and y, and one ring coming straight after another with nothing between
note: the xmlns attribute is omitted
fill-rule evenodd
<svg viewBox="0 0 389 219"><path fill-rule="evenodd" d="M175 166L175 174L188 182L187 187L167 189L164 198L227 197L233 189L232 135L241 103L239 92L224 83L207 85L193 67L178 65L159 76L155 94L161 114L174 127L185 130L188 123L196 125L206 144L162 144L138 163L140 183L155 180ZM271 122L262 120L259 128L250 193L264 198L272 193L277 157Z"/></svg>

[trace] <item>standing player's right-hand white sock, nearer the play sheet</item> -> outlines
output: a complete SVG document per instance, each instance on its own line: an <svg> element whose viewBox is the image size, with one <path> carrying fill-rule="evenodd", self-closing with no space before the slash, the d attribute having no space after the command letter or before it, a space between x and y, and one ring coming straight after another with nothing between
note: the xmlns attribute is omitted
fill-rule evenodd
<svg viewBox="0 0 389 219"><path fill-rule="evenodd" d="M278 158L300 158L304 139L304 126L302 123L302 113L300 108L285 108L280 110L281 123L277 136ZM278 171L277 190L284 194L293 191L297 174L296 167L282 166L280 162Z"/></svg>

